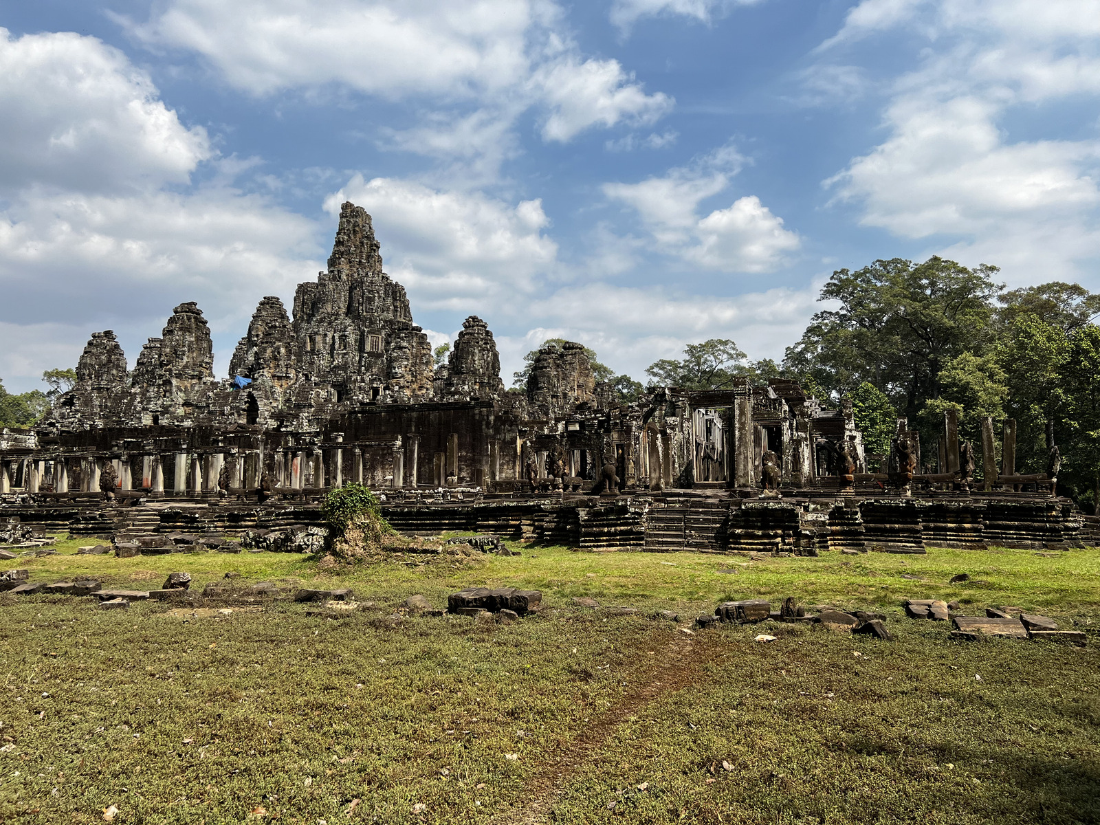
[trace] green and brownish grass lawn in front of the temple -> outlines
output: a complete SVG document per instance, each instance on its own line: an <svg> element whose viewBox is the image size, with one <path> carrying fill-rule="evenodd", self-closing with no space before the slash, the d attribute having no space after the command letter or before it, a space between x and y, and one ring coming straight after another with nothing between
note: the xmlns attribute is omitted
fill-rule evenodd
<svg viewBox="0 0 1100 825"><path fill-rule="evenodd" d="M199 591L235 572L377 606L187 618L168 603L0 595L2 822L103 822L112 805L117 823L211 825L1100 821L1100 638L960 644L901 609L1012 604L1091 631L1100 550L751 561L513 544L520 556L319 575L299 556L116 559L78 543L0 569L127 588L179 570ZM972 581L948 584L960 572ZM442 607L475 584L539 588L549 609L512 625L387 618L410 594ZM609 616L580 595L640 610ZM895 640L773 623L689 635L651 618L788 595L881 609Z"/></svg>

